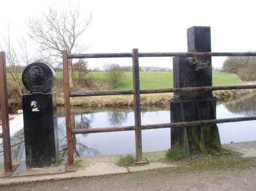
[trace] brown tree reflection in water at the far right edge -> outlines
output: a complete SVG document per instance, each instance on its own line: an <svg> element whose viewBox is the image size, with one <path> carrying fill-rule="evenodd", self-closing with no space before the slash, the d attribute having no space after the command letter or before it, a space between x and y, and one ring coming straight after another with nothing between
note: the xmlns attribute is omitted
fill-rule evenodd
<svg viewBox="0 0 256 191"><path fill-rule="evenodd" d="M245 116L254 115L256 114L256 96L225 104L225 107L228 111L235 114L244 114Z"/></svg>

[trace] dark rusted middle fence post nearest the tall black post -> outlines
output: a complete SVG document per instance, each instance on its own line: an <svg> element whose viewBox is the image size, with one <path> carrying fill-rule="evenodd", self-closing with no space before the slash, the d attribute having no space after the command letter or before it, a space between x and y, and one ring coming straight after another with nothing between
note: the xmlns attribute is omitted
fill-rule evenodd
<svg viewBox="0 0 256 191"><path fill-rule="evenodd" d="M138 49L132 49L132 75L134 96L134 128L136 144L136 162L142 160L141 108L140 108L140 67Z"/></svg>

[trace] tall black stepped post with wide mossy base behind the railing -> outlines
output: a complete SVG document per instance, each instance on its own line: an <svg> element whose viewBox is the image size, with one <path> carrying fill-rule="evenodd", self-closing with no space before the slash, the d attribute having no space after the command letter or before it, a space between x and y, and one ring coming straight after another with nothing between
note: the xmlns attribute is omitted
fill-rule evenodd
<svg viewBox="0 0 256 191"><path fill-rule="evenodd" d="M188 52L211 52L211 28L188 29ZM212 86L211 57L174 57L173 83L175 88ZM174 93L171 100L171 120L198 121L216 119L216 99L212 92ZM187 153L220 150L216 124L172 129L172 146L184 148Z"/></svg>

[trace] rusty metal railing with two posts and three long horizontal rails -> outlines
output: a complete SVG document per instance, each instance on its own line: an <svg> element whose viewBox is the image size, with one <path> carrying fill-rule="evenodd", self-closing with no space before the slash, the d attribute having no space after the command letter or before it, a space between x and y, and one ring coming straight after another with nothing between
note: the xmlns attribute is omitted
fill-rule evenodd
<svg viewBox="0 0 256 191"><path fill-rule="evenodd" d="M174 93L174 92L204 92L227 89L255 89L256 85L239 85L239 86L205 86L205 87L189 87L189 88L166 88L166 89L140 89L139 74L139 57L212 57L212 56L256 56L256 52L142 52L138 49L132 49L131 53L102 53L102 54L69 54L63 51L63 88L65 100L65 119L67 129L67 146L68 146L68 167L74 165L72 134L91 134L100 132L120 132L135 131L136 142L136 161L142 160L142 144L141 130L156 128L181 128L205 123L230 123L237 121L256 120L256 116L243 118L226 118L226 119L209 119L202 121L188 121L180 123L163 123L156 125L141 125L141 107L140 94L148 93ZM93 92L70 92L68 81L68 59L81 58L107 58L107 57L132 57L132 74L133 89L132 90L111 90L111 91L93 91ZM107 96L107 95L134 95L134 126L117 126L109 128L92 128L74 129L71 127L70 118L70 97L79 96Z"/></svg>

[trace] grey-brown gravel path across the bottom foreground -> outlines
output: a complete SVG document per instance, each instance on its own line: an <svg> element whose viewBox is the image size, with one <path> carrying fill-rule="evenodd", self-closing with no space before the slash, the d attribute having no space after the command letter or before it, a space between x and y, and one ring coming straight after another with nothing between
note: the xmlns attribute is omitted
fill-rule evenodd
<svg viewBox="0 0 256 191"><path fill-rule="evenodd" d="M0 187L0 190L256 190L256 167L198 173L168 169L94 178L44 181Z"/></svg>

